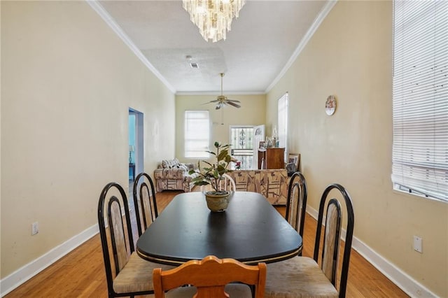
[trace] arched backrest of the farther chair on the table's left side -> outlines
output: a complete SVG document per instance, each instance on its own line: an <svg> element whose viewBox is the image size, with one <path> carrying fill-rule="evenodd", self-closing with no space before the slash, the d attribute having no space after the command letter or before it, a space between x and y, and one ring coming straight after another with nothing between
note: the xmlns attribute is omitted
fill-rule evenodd
<svg viewBox="0 0 448 298"><path fill-rule="evenodd" d="M159 216L155 201L155 188L151 177L147 173L139 173L134 180L134 208L137 218L139 236L148 229L151 222Z"/></svg>

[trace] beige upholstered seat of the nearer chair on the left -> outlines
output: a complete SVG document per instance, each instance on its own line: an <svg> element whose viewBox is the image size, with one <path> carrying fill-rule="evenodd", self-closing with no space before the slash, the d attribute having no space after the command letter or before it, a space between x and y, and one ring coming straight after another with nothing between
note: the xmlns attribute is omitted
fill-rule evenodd
<svg viewBox="0 0 448 298"><path fill-rule="evenodd" d="M137 253L132 253L125 267L113 280L113 290L117 293L145 292L154 290L153 269L173 269L174 266L146 261Z"/></svg>

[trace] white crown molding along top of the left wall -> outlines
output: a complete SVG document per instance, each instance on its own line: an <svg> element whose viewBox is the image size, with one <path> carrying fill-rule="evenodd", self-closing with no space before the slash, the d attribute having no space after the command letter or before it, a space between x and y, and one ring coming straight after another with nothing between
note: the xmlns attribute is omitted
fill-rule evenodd
<svg viewBox="0 0 448 298"><path fill-rule="evenodd" d="M153 64L151 64L151 62L149 62L148 59L146 59L146 57L141 53L139 48L137 48L137 45L135 45L131 41L131 38L129 38L129 36L125 34L125 31L123 31L120 25L118 25L116 21L113 20L111 15L107 13L104 7L97 0L85 0L85 1L89 3L89 5L93 8L93 10L95 10L98 13L100 17L102 17L104 22L106 22L106 24L108 24L109 27L111 27L111 29L118 35L118 37L121 38L121 40L125 43L125 45L127 45L130 48L130 50L134 52L134 54L140 59L140 61L143 62L143 64L145 64L145 66L148 67L148 69L152 73L154 73L154 75L160 81L162 81L162 83L169 89L169 91L176 94L176 89L174 89L174 87L168 83L168 81L160 74L160 72L157 69L155 69Z"/></svg>

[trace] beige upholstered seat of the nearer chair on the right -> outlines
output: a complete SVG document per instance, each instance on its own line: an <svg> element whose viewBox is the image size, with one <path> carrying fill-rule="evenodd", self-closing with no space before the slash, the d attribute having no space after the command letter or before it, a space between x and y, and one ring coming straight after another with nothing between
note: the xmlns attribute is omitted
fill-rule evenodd
<svg viewBox="0 0 448 298"><path fill-rule="evenodd" d="M339 293L310 257L293 257L267 264L265 297L339 297Z"/></svg>

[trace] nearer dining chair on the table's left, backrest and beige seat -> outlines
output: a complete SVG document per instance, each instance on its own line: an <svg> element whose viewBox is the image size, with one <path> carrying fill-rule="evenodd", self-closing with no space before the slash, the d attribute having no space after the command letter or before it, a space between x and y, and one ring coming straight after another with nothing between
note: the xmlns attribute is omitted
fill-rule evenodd
<svg viewBox="0 0 448 298"><path fill-rule="evenodd" d="M118 183L107 184L99 196L98 225L109 297L153 294L153 269L174 267L135 253L127 197Z"/></svg>

